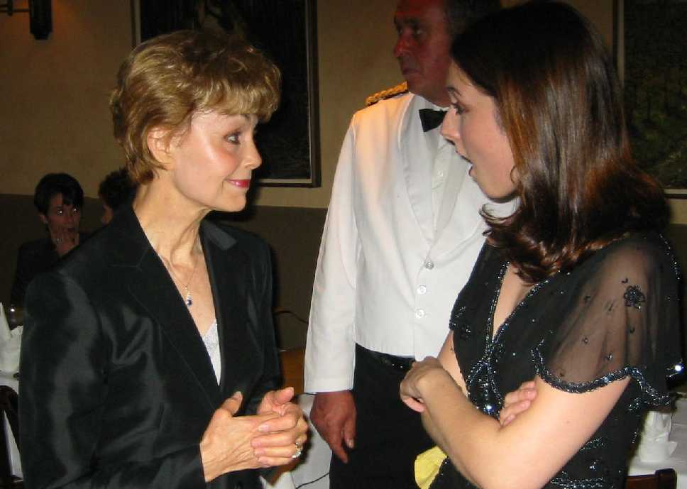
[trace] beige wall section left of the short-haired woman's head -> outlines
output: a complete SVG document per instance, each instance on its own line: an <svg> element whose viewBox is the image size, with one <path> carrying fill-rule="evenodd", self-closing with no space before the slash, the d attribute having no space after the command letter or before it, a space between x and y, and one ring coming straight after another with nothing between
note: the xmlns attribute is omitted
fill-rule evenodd
<svg viewBox="0 0 687 489"><path fill-rule="evenodd" d="M33 194L41 175L62 170L94 196L121 162L107 97L131 48L128 1L53 1L53 33L42 41L27 13L0 13L0 45L0 192Z"/></svg>

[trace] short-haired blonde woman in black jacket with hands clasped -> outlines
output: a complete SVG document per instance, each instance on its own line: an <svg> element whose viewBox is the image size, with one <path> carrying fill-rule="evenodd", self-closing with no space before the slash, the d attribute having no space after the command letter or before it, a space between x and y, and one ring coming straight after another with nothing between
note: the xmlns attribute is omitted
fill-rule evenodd
<svg viewBox="0 0 687 489"><path fill-rule="evenodd" d="M25 485L258 489L307 424L280 380L259 238L205 216L246 205L280 74L238 40L138 45L111 97L133 204L26 298Z"/></svg>

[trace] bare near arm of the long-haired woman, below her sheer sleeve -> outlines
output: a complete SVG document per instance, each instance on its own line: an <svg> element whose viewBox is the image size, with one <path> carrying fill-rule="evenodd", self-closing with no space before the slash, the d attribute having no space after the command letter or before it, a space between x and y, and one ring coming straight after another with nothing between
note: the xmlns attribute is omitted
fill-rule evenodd
<svg viewBox="0 0 687 489"><path fill-rule="evenodd" d="M483 489L541 488L590 439L630 382L571 394L537 378L532 407L502 427L448 373L434 370L417 383L423 422L456 468Z"/></svg>

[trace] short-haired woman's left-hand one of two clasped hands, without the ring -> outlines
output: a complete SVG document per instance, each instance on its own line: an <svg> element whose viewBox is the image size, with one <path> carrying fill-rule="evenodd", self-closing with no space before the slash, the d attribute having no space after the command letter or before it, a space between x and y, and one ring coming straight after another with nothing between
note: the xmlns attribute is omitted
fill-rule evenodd
<svg viewBox="0 0 687 489"><path fill-rule="evenodd" d="M279 414L233 417L241 407L243 396L236 392L214 412L200 441L200 456L209 482L223 473L269 466L255 456L251 441L263 431L265 423Z"/></svg>

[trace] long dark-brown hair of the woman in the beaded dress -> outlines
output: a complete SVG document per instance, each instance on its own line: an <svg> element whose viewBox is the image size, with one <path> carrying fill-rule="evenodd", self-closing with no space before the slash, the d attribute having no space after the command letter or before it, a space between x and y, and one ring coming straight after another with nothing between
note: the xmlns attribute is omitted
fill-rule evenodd
<svg viewBox="0 0 687 489"><path fill-rule="evenodd" d="M597 31L571 6L532 2L483 18L451 48L495 99L520 206L483 212L488 241L522 278L566 270L631 231L661 229L661 187L630 154L622 90Z"/></svg>

